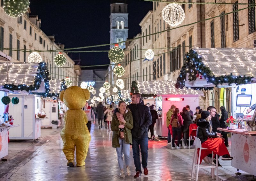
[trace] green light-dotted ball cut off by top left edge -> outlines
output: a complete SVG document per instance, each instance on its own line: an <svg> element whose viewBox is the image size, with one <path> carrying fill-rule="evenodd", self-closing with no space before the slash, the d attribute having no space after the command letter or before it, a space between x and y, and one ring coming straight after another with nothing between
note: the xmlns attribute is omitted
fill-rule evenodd
<svg viewBox="0 0 256 181"><path fill-rule="evenodd" d="M29 0L4 0L4 12L12 18L18 18L28 11Z"/></svg>

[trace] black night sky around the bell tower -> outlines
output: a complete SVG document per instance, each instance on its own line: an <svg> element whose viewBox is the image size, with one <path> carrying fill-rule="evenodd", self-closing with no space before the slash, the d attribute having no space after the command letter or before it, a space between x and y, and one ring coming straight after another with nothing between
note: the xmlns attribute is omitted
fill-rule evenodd
<svg viewBox="0 0 256 181"><path fill-rule="evenodd" d="M153 3L127 2L128 38L133 38L141 32L139 23L153 9ZM110 0L30 0L30 10L31 15L41 19L44 33L55 34L55 43L65 44L65 48L110 43ZM79 50L109 50L109 46ZM68 55L73 60L79 59L78 53ZM81 66L109 64L107 52L80 53L80 59Z"/></svg>

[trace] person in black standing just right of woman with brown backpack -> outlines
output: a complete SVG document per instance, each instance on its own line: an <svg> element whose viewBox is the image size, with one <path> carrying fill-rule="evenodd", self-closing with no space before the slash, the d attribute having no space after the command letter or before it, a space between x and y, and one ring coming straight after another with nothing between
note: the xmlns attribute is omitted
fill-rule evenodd
<svg viewBox="0 0 256 181"><path fill-rule="evenodd" d="M190 109L189 109L190 110ZM188 112L188 108L186 110L182 110L182 119L184 120L184 129L183 129L183 133L184 133L184 148L187 148L187 141L188 141L188 134L189 134L189 126L190 124L193 124L193 117L191 115L190 112ZM190 144L190 143L188 143Z"/></svg>

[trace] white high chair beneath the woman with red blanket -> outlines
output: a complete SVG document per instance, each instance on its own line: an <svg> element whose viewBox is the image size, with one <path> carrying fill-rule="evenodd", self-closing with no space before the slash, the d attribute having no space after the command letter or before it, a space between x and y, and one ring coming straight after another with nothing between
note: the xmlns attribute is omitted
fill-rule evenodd
<svg viewBox="0 0 256 181"><path fill-rule="evenodd" d="M195 152L194 152L194 157L193 157L193 163L192 163L192 171L191 171L191 179L195 178L195 170L196 170L196 181L198 180L198 173L199 173L199 167L200 168L211 168L211 173L212 173L212 179L214 179L214 169L216 169L216 181L218 181L218 155L216 154L216 165L212 164L200 164L200 158L201 158L201 151L203 149L208 149L208 148L202 148L202 144L199 138L194 136L194 144L195 144ZM197 160L197 149L199 148L199 155L198 155L198 161ZM213 152L212 152L212 161L213 161Z"/></svg>

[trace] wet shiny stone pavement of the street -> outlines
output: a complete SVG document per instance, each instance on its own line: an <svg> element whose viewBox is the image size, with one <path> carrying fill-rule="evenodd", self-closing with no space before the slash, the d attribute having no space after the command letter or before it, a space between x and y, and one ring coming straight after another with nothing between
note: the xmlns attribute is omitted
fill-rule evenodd
<svg viewBox="0 0 256 181"><path fill-rule="evenodd" d="M82 181L82 180L132 180L132 181L186 181L190 179L191 165L194 154L192 149L171 150L167 141L156 138L149 141L148 147L148 175L143 173L140 178L134 178L135 166L132 157L132 147L130 148L130 169L131 176L119 178L120 170L117 163L116 149L112 148L111 139L112 132L108 132L105 128L101 130L97 126L92 126L92 140L90 143L88 155L83 167L68 167L67 160L62 152L62 140L60 138L60 128L41 129L44 144L37 145L36 151L30 154L26 159L17 163L2 174L2 181L27 181L27 180L43 180L43 181ZM10 148L14 148L13 143L9 143ZM24 143L17 143L15 147ZM231 144L231 143L230 143ZM26 146L27 147L27 146ZM35 149L35 148L34 148ZM230 148L229 148L230 149ZM32 150L30 148L30 150ZM25 151L25 150L23 150ZM22 151L20 153L22 155ZM8 165L15 159L15 155L11 153L7 162L0 164L0 174L3 173L4 166ZM219 169L219 180L250 180L252 177L247 173L242 176L236 176L236 169L231 167L231 161L221 161L222 168ZM125 166L124 166L125 168ZM125 173L126 174L126 173ZM212 180L211 173L208 169L200 169L199 179L203 181Z"/></svg>

